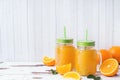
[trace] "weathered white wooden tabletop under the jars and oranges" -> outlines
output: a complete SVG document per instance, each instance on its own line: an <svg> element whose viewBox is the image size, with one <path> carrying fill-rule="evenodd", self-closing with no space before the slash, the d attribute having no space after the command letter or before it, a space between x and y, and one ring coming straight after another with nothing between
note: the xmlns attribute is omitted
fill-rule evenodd
<svg viewBox="0 0 120 80"><path fill-rule="evenodd" d="M3 62L0 63L0 80L64 80L61 75L52 75L50 69L54 67L40 66L39 62ZM36 66L35 66L36 65ZM120 70L114 77L105 77L100 73L102 80L120 80ZM82 77L82 80L90 80Z"/></svg>

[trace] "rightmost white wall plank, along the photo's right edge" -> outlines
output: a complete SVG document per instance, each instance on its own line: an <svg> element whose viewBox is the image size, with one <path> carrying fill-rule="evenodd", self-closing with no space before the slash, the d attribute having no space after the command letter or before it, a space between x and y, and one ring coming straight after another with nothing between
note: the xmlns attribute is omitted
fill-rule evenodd
<svg viewBox="0 0 120 80"><path fill-rule="evenodd" d="M120 45L120 0L114 0L113 45Z"/></svg>

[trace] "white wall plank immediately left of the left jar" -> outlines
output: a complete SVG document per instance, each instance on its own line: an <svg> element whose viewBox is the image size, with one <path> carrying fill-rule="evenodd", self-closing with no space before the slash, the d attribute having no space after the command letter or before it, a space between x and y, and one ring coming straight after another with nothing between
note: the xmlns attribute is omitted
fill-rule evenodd
<svg viewBox="0 0 120 80"><path fill-rule="evenodd" d="M42 49L41 56L55 55L55 0L42 0Z"/></svg>

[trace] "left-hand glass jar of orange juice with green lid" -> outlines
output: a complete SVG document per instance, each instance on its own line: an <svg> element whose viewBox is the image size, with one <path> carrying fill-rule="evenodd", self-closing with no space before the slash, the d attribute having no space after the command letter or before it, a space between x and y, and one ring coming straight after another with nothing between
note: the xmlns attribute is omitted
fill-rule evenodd
<svg viewBox="0 0 120 80"><path fill-rule="evenodd" d="M73 39L57 39L56 65L65 65L71 63L72 69L75 65L75 47L73 46Z"/></svg>

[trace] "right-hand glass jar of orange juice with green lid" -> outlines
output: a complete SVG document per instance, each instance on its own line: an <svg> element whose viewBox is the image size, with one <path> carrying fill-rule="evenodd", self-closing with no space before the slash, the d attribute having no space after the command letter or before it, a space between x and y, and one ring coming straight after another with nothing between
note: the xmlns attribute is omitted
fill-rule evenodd
<svg viewBox="0 0 120 80"><path fill-rule="evenodd" d="M97 69L97 51L94 41L78 41L76 51L76 71L80 75L95 74Z"/></svg>

